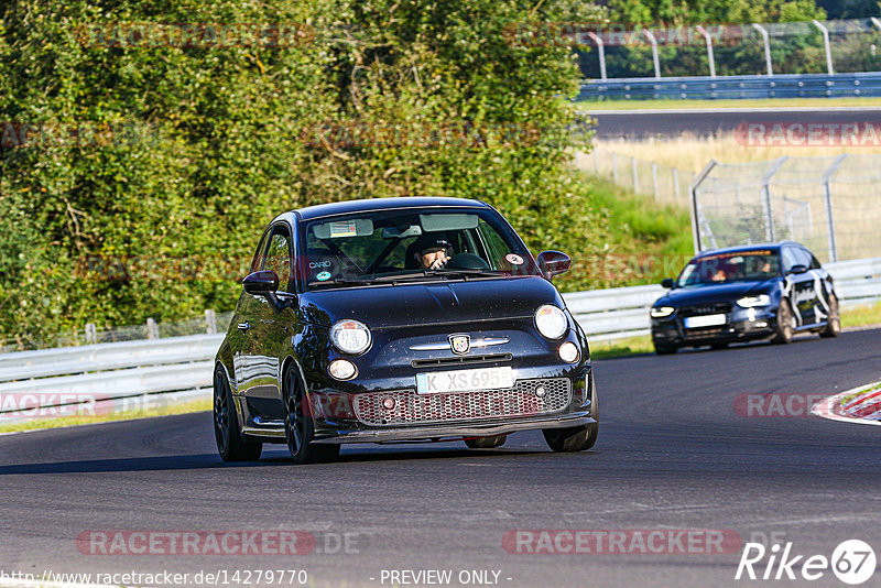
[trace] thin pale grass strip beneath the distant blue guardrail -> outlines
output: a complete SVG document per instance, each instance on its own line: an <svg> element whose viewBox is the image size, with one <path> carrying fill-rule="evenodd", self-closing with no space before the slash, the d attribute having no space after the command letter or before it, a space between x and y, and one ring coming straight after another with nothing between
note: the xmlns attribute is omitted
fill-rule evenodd
<svg viewBox="0 0 881 588"><path fill-rule="evenodd" d="M809 107L874 107L881 106L881 98L763 98L753 100L602 100L580 101L575 105L580 110L642 110L692 108L809 108Z"/></svg>

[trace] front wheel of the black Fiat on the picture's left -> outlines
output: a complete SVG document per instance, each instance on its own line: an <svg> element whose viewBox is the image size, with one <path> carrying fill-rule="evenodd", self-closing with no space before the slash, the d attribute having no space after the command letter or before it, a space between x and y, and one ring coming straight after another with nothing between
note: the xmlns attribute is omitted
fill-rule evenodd
<svg viewBox="0 0 881 588"><path fill-rule="evenodd" d="M322 464L339 457L339 445L315 445L315 421L300 373L294 364L284 370L284 440L297 465Z"/></svg>

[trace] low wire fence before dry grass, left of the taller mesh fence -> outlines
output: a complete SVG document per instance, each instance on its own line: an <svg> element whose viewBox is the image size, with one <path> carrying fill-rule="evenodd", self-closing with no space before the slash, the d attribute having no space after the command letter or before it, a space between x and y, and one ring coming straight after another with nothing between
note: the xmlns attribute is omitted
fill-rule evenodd
<svg viewBox="0 0 881 588"><path fill-rule="evenodd" d="M579 170L592 173L637 194L663 204L688 206L689 187L696 174L672 165L645 161L595 146L575 154Z"/></svg>

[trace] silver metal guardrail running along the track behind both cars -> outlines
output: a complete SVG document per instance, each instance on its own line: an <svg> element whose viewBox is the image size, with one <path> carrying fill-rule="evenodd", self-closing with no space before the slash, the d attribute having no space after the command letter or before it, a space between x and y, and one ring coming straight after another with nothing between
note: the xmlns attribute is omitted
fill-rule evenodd
<svg viewBox="0 0 881 588"><path fill-rule="evenodd" d="M842 305L881 301L881 258L826 268L836 280ZM590 339L603 340L649 334L649 307L663 293L660 285L645 285L563 297ZM23 395L41 406L67 404L69 399L112 403L186 391L203 391L199 398L207 396L213 359L222 338L194 335L0 355L0 415L12 412L4 398Z"/></svg>

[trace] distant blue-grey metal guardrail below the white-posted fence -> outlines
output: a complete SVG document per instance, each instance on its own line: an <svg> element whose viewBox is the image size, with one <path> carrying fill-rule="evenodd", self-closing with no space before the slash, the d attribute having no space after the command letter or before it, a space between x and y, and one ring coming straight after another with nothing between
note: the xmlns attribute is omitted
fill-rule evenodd
<svg viewBox="0 0 881 588"><path fill-rule="evenodd" d="M589 79L576 100L835 98L881 96L881 72Z"/></svg>

